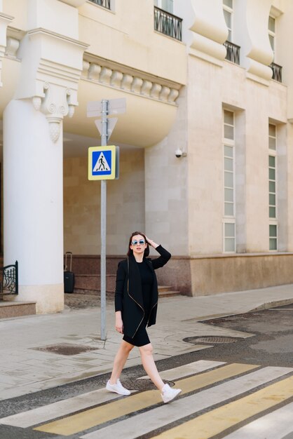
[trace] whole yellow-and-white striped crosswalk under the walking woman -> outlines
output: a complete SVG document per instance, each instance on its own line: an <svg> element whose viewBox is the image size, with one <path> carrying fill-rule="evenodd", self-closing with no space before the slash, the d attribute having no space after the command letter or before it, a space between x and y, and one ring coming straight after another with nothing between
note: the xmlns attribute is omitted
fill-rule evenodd
<svg viewBox="0 0 293 439"><path fill-rule="evenodd" d="M182 389L171 404L163 405L156 390L122 397L98 389L4 417L0 431L1 424L31 428L42 439L46 433L80 439L293 437L291 367L199 360L161 376Z"/></svg>

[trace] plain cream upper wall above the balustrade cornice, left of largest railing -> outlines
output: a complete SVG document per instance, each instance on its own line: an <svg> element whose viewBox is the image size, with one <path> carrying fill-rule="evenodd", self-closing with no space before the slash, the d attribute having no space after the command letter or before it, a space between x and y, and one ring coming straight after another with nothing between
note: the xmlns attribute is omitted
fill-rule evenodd
<svg viewBox="0 0 293 439"><path fill-rule="evenodd" d="M186 81L186 48L154 32L153 0L116 0L113 11L88 1L79 8L79 39L90 43L93 55L179 83Z"/></svg>

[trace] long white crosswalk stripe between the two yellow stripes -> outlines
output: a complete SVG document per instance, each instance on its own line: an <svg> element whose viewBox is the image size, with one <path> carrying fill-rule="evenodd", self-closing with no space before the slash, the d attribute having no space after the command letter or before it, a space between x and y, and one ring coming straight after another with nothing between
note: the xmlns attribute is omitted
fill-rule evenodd
<svg viewBox="0 0 293 439"><path fill-rule="evenodd" d="M186 398L177 400L167 407L165 405L156 407L146 413L132 416L130 419L81 435L81 439L135 439L157 428L166 426L172 421L195 414L212 405L224 403L229 398L239 396L241 393L280 378L288 372L292 372L292 369L287 367L264 367L261 370L231 379L224 384L219 384L195 395L186 396Z"/></svg>

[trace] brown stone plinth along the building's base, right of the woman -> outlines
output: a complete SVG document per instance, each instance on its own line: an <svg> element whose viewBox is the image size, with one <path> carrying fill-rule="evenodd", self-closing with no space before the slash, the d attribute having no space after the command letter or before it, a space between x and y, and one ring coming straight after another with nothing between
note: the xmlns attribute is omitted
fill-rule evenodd
<svg viewBox="0 0 293 439"><path fill-rule="evenodd" d="M157 276L159 285L196 297L293 283L292 266L292 253L172 257Z"/></svg>

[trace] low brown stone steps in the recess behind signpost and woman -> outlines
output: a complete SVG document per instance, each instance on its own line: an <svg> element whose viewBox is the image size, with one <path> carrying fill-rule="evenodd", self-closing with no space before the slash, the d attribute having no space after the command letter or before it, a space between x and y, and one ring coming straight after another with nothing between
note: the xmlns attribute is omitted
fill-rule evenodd
<svg viewBox="0 0 293 439"><path fill-rule="evenodd" d="M77 294L97 295L100 292L100 274L76 274L74 292ZM107 295L115 294L116 275L106 275L106 292ZM171 297L179 295L179 291L172 290L172 287L166 285L158 286L159 297Z"/></svg>

